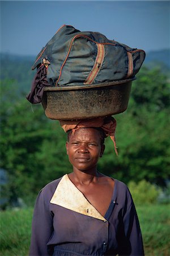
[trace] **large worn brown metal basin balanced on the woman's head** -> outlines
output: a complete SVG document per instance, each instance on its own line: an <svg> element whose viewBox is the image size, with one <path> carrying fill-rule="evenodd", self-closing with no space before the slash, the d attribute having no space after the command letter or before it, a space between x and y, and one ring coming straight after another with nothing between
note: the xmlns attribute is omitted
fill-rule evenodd
<svg viewBox="0 0 170 256"><path fill-rule="evenodd" d="M42 106L50 119L86 119L124 112L134 79L84 86L45 87Z"/></svg>

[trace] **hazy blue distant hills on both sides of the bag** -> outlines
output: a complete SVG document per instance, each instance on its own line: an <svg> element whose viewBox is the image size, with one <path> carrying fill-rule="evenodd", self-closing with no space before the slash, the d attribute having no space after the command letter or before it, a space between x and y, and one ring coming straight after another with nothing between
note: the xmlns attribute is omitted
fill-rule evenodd
<svg viewBox="0 0 170 256"><path fill-rule="evenodd" d="M8 53L0 53L1 75L0 79L13 79L16 81L18 90L28 93L31 82L36 71L31 67L36 56L19 56ZM169 76L170 70L170 49L146 52L144 62L149 68L159 67L162 72Z"/></svg>

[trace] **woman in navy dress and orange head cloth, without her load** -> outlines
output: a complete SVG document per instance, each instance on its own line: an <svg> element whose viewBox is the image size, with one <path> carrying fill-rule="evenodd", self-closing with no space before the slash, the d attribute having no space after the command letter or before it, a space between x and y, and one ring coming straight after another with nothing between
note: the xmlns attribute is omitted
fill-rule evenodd
<svg viewBox="0 0 170 256"><path fill-rule="evenodd" d="M97 171L104 137L111 136L116 150L115 119L61 125L68 133L66 150L73 172L40 191L29 255L144 255L128 188Z"/></svg>

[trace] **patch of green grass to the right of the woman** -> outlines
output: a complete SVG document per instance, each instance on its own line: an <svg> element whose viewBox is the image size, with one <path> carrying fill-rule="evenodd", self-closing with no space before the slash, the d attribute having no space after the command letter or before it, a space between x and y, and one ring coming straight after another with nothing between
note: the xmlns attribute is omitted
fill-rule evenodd
<svg viewBox="0 0 170 256"><path fill-rule="evenodd" d="M146 256L170 255L169 207L163 204L146 205L145 202L137 207Z"/></svg>

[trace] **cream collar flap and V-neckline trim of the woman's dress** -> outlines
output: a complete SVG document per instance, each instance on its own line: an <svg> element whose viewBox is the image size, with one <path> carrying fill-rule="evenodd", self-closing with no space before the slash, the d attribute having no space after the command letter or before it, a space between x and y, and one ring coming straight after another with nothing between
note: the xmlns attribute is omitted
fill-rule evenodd
<svg viewBox="0 0 170 256"><path fill-rule="evenodd" d="M94 205L87 200L86 196L84 196L84 194L75 186L67 174L64 175L59 181L50 203L60 205L61 207L73 210L86 216L106 221L113 210L112 205L114 201L115 188L116 180L114 180L112 200L104 216L102 216Z"/></svg>

